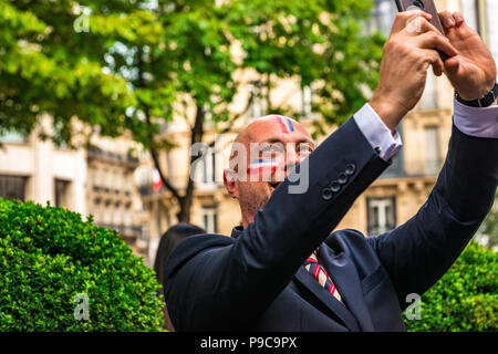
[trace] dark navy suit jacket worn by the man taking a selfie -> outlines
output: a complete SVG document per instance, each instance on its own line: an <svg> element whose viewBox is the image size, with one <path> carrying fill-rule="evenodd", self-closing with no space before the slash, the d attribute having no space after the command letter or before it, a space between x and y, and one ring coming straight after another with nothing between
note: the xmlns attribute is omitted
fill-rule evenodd
<svg viewBox="0 0 498 354"><path fill-rule="evenodd" d="M354 119L304 163L304 194L289 194L297 178L288 177L246 229L190 237L172 253L164 288L177 331L404 331L406 296L445 273L492 205L498 139L454 126L428 200L407 222L372 238L330 235L390 164ZM302 267L317 248L345 306Z"/></svg>

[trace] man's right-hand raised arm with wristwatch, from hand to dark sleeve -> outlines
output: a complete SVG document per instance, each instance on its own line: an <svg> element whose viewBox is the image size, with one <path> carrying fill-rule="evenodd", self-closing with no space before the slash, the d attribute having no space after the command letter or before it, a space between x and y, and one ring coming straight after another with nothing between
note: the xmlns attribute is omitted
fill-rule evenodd
<svg viewBox="0 0 498 354"><path fill-rule="evenodd" d="M402 308L406 306L407 294L425 292L460 254L489 211L498 180L497 101L488 107L470 106L492 92L495 61L461 14L445 11L440 18L459 52L445 62L446 74L459 96L454 104L448 155L419 211L398 228L369 238L390 273ZM486 100L475 105L483 104Z"/></svg>

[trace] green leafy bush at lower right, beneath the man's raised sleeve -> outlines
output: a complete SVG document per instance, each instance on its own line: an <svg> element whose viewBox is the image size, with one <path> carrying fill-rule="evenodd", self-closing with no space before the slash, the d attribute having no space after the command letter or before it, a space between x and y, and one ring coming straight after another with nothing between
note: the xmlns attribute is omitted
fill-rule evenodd
<svg viewBox="0 0 498 354"><path fill-rule="evenodd" d="M498 258L471 241L439 281L422 295L421 320L411 332L497 331Z"/></svg>

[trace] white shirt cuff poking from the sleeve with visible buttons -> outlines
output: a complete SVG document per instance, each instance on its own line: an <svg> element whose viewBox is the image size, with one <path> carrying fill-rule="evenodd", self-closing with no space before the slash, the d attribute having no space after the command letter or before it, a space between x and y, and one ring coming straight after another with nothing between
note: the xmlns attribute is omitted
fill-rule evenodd
<svg viewBox="0 0 498 354"><path fill-rule="evenodd" d="M382 159L388 160L403 146L400 133L393 134L369 103L354 114L354 121Z"/></svg>

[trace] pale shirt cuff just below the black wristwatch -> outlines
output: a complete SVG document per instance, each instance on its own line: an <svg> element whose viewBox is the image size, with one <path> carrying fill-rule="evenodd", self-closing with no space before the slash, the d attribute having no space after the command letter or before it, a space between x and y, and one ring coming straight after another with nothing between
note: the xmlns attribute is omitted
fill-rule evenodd
<svg viewBox="0 0 498 354"><path fill-rule="evenodd" d="M470 107L454 98L455 126L464 134L498 138L498 105Z"/></svg>

